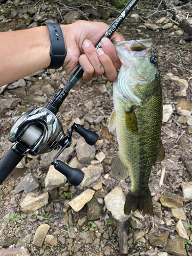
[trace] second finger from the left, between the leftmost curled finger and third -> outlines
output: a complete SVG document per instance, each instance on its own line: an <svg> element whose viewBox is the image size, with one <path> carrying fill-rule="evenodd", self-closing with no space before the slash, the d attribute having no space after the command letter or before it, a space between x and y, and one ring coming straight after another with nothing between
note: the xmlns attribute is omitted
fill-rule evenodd
<svg viewBox="0 0 192 256"><path fill-rule="evenodd" d="M94 67L94 77L102 75L104 73L104 68L99 61L98 55L92 42L88 39L85 39L82 44L82 49Z"/></svg>

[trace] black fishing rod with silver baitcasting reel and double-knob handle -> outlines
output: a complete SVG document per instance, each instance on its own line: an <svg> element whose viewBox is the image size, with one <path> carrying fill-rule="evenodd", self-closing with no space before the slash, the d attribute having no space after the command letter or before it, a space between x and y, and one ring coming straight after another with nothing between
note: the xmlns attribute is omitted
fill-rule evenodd
<svg viewBox="0 0 192 256"><path fill-rule="evenodd" d="M98 41L95 47L96 50L101 48L101 39L103 37L110 38L138 2L139 0L131 0L124 7L106 33ZM17 119L9 134L9 141L15 144L0 162L0 185L26 154L37 156L51 152L52 150L58 151L51 162L55 169L65 175L72 185L77 186L82 182L84 178L82 170L72 168L57 159L65 148L71 146L74 130L81 135L89 145L94 145L97 142L98 135L76 123L73 123L67 134L65 134L56 114L83 72L82 67L79 66L66 85L59 89L44 107L29 110Z"/></svg>

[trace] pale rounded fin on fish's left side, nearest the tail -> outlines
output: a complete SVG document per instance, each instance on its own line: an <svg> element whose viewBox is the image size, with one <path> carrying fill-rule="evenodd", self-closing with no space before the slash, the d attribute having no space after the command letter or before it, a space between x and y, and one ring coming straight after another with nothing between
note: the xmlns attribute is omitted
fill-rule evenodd
<svg viewBox="0 0 192 256"><path fill-rule="evenodd" d="M117 180L124 180L129 175L129 169L124 164L120 152L117 153L113 161L111 174Z"/></svg>

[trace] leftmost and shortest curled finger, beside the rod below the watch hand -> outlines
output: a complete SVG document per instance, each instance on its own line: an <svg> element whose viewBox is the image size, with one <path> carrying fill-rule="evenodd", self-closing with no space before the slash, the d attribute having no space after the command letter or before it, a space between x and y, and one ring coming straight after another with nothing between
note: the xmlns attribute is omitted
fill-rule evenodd
<svg viewBox="0 0 192 256"><path fill-rule="evenodd" d="M81 76L81 79L84 82L88 82L93 78L93 74L94 74L94 67L92 66L91 62L89 61L88 57L86 56L86 54L81 54L79 56L79 64L82 67L82 69L84 70L83 75Z"/></svg>

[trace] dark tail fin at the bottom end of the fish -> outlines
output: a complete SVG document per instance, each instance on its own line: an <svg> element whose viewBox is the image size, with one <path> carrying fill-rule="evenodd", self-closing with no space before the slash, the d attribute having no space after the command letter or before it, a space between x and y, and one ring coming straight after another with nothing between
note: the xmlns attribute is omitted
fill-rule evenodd
<svg viewBox="0 0 192 256"><path fill-rule="evenodd" d="M126 195L124 214L129 215L131 211L142 211L143 214L153 215L152 195L149 191L146 195L136 195L131 191Z"/></svg>

